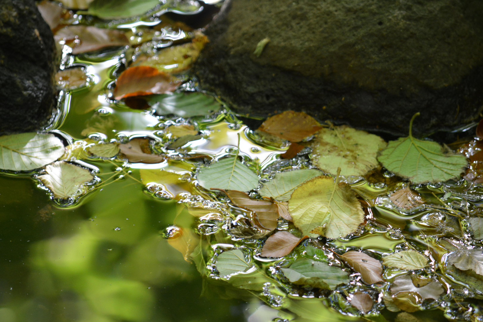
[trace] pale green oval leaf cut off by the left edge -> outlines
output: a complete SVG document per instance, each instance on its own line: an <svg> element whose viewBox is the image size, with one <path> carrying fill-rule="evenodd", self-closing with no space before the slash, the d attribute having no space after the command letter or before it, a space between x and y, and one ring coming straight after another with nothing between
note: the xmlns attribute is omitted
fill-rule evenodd
<svg viewBox="0 0 483 322"><path fill-rule="evenodd" d="M42 168L63 154L64 145L53 134L21 133L0 137L0 169Z"/></svg>

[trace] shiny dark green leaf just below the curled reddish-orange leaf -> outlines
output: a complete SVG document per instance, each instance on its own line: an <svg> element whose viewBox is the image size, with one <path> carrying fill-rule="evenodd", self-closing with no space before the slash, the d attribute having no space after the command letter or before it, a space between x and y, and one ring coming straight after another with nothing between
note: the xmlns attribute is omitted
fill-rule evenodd
<svg viewBox="0 0 483 322"><path fill-rule="evenodd" d="M173 95L153 95L148 104L157 115L174 114L181 117L207 115L218 112L221 104L212 96L203 93L178 93Z"/></svg>

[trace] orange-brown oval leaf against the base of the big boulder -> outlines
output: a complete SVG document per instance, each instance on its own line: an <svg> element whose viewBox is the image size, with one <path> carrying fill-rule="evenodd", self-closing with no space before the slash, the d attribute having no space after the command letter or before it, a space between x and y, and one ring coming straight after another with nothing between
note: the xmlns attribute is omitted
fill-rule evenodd
<svg viewBox="0 0 483 322"><path fill-rule="evenodd" d="M285 111L269 117L258 129L290 142L298 142L321 128L319 122L304 112Z"/></svg>

